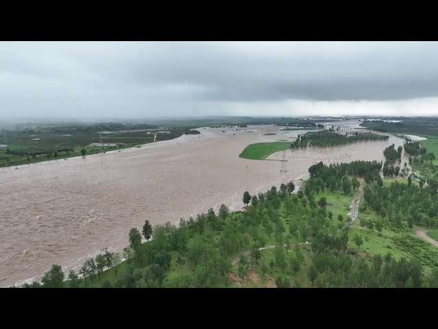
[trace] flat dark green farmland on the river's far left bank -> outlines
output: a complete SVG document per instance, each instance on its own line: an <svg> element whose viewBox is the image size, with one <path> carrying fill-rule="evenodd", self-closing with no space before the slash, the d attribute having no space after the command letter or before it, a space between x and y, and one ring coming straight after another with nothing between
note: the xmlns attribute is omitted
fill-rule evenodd
<svg viewBox="0 0 438 329"><path fill-rule="evenodd" d="M120 129L123 131L117 132ZM127 129L142 130L129 131ZM23 130L4 130L0 133L0 167L17 166L35 162L70 158L99 153L99 146L89 147L91 143L100 143L99 132L103 143L114 143L115 146L103 147L103 151L125 149L146 143L153 143L153 132L158 130L154 125L120 125L105 123L97 125L42 125L26 127ZM151 131L151 134L146 134ZM166 141L182 134L200 134L197 130L186 127L174 127L170 134L157 134L156 141Z"/></svg>

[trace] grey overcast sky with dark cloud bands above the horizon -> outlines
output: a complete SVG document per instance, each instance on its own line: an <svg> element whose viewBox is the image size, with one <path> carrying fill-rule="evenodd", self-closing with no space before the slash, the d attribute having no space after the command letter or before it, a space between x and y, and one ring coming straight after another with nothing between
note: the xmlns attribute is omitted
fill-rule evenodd
<svg viewBox="0 0 438 329"><path fill-rule="evenodd" d="M438 42L0 42L0 114L438 115Z"/></svg>

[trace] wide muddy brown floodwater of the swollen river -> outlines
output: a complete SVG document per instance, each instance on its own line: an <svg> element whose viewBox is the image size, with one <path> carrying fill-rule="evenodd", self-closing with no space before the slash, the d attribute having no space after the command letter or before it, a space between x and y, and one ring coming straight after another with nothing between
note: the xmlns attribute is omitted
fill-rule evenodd
<svg viewBox="0 0 438 329"><path fill-rule="evenodd" d="M341 122L345 129L357 122ZM263 127L263 130L261 129ZM0 286L40 279L52 264L64 270L108 247L120 251L130 228L145 219L177 222L208 208L227 204L242 208L244 191L266 191L272 185L307 178L317 161L384 160L383 149L402 139L359 142L330 149L287 151L281 162L239 158L250 143L293 141L304 131L250 126L253 132L200 128L201 135L141 148L51 160L0 169ZM264 136L268 132L276 135ZM270 159L281 160L283 152Z"/></svg>

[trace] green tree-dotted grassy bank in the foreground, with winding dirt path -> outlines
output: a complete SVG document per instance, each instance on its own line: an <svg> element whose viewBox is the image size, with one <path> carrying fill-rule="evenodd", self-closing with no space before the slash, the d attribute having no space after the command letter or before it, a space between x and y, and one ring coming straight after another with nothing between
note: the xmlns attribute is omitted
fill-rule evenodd
<svg viewBox="0 0 438 329"><path fill-rule="evenodd" d="M437 230L438 184L383 184L381 166L320 162L297 193L289 182L245 192L241 211L146 220L123 253L87 260L83 278L53 265L26 287L438 287L438 249L414 233Z"/></svg>

